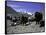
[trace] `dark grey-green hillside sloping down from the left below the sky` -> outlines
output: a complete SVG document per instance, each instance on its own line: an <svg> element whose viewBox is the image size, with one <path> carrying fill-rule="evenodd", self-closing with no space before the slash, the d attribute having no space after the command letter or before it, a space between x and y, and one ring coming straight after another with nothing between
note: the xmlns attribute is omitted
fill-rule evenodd
<svg viewBox="0 0 46 35"><path fill-rule="evenodd" d="M13 10L11 7L8 7L8 6L6 6L6 13L7 14L12 14L14 16L22 16L22 15L28 16L28 17L31 16L27 13L22 14L21 12L16 12L15 10Z"/></svg>

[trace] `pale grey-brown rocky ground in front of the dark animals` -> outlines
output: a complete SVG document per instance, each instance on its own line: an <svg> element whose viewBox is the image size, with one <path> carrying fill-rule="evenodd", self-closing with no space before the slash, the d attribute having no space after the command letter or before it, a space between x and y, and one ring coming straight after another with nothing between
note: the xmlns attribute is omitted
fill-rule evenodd
<svg viewBox="0 0 46 35"><path fill-rule="evenodd" d="M7 21L7 33L8 34L15 34L15 33L36 33L36 32L44 32L44 27L39 27L39 24L36 22L31 22L28 26L17 25L17 26L10 26L12 24L10 20Z"/></svg>

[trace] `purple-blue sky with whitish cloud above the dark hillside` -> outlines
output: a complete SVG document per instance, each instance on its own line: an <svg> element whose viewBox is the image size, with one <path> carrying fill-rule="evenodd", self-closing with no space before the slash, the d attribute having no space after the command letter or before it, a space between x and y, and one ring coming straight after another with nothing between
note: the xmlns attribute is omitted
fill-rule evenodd
<svg viewBox="0 0 46 35"><path fill-rule="evenodd" d="M7 1L7 6L13 8L17 12L24 12L24 13L35 13L44 12L45 4L38 3L38 2L18 2L18 1Z"/></svg>

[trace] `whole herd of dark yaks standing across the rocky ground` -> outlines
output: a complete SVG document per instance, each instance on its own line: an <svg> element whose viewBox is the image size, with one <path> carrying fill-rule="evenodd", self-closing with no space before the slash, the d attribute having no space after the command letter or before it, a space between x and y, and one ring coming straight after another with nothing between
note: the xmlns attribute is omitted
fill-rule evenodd
<svg viewBox="0 0 46 35"><path fill-rule="evenodd" d="M8 20L11 20L12 22L18 22L18 24L16 25L19 25L19 24L26 24L28 21L36 21L36 24L40 24L40 27L44 27L45 26L45 20L42 20L43 19L43 14L42 13L39 13L39 12L35 12L35 18L32 20L28 20L28 17L24 17L22 15L22 17L18 17L16 18L16 16L14 17L15 19L12 19L12 16L7 16L6 19ZM11 24L12 26L14 26L14 23Z"/></svg>

